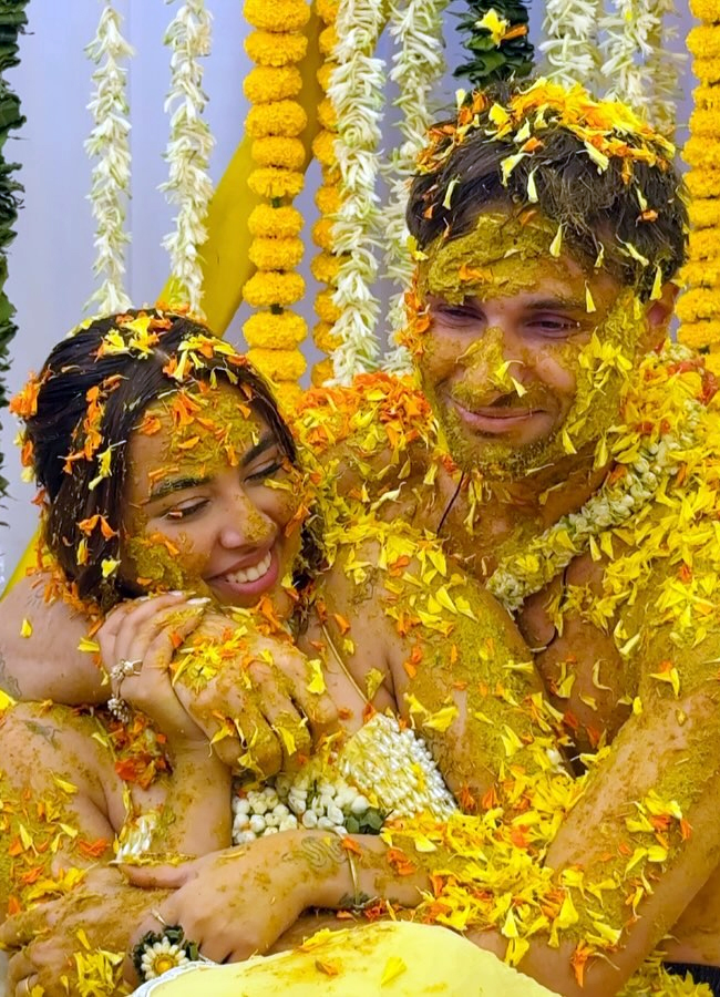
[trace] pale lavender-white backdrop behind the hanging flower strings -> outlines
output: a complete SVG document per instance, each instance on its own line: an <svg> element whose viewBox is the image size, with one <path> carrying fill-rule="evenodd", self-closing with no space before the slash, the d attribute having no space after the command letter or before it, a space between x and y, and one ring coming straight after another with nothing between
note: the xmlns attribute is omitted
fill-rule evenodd
<svg viewBox="0 0 720 997"><path fill-rule="evenodd" d="M167 137L163 101L168 85L168 55L162 39L174 6L163 0L116 0L116 7L125 19L125 37L136 50L130 72L133 183L128 228L133 241L127 257L127 286L133 301L142 305L155 300L167 277L167 261L160 243L172 226L172 216L156 188L165 178L162 153ZM247 113L241 85L250 66L243 49L247 28L241 0L208 0L208 7L215 20L205 89L210 97L208 120L216 137L210 168L217 183L241 136ZM460 9L461 4L455 2L453 7ZM83 141L91 129L86 104L92 64L83 49L94 35L101 9L99 0L31 0L30 31L21 39L22 61L8 74L28 119L6 151L8 158L21 163L19 178L25 188L7 286L18 309L20 328L11 347L11 392L22 386L31 369L39 369L52 345L83 317L83 305L94 288L93 225L85 198L91 166L83 152ZM531 37L536 40L541 0L535 0L532 19ZM459 53L454 23L455 19L449 16L446 58L451 66L456 64ZM687 2L681 0L680 48L689 25ZM439 109L452 101L457 85L461 84L449 75L438 94ZM681 121L689 113L690 86L686 74ZM392 141L389 132L385 146ZM310 176L308 189L298 202L308 232L315 217L315 186ZM308 280L306 318L311 323L315 286L307 265L304 274ZM236 342L238 329L236 320L228 333ZM313 356L308 359L312 362ZM0 578L3 562L6 574L10 575L35 528L35 508L30 503L34 489L20 481L20 463L12 445L17 428L7 411L1 413L1 425L0 445L6 454L4 475L10 480L10 494L0 508Z"/></svg>

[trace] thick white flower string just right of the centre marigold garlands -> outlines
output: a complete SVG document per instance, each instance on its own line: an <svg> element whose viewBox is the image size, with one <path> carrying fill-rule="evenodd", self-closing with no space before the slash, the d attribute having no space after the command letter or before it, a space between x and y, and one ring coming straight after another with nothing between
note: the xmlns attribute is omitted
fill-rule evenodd
<svg viewBox="0 0 720 997"><path fill-rule="evenodd" d="M333 302L341 309L332 335L340 339L333 354L335 380L349 383L373 370L380 351L376 332L380 304L372 291L378 277L376 249L381 214L376 191L384 73L372 53L384 25L378 0L342 0L336 30L338 43L328 97L337 114L336 156L342 203L332 228L333 250L348 254L338 271Z"/></svg>

